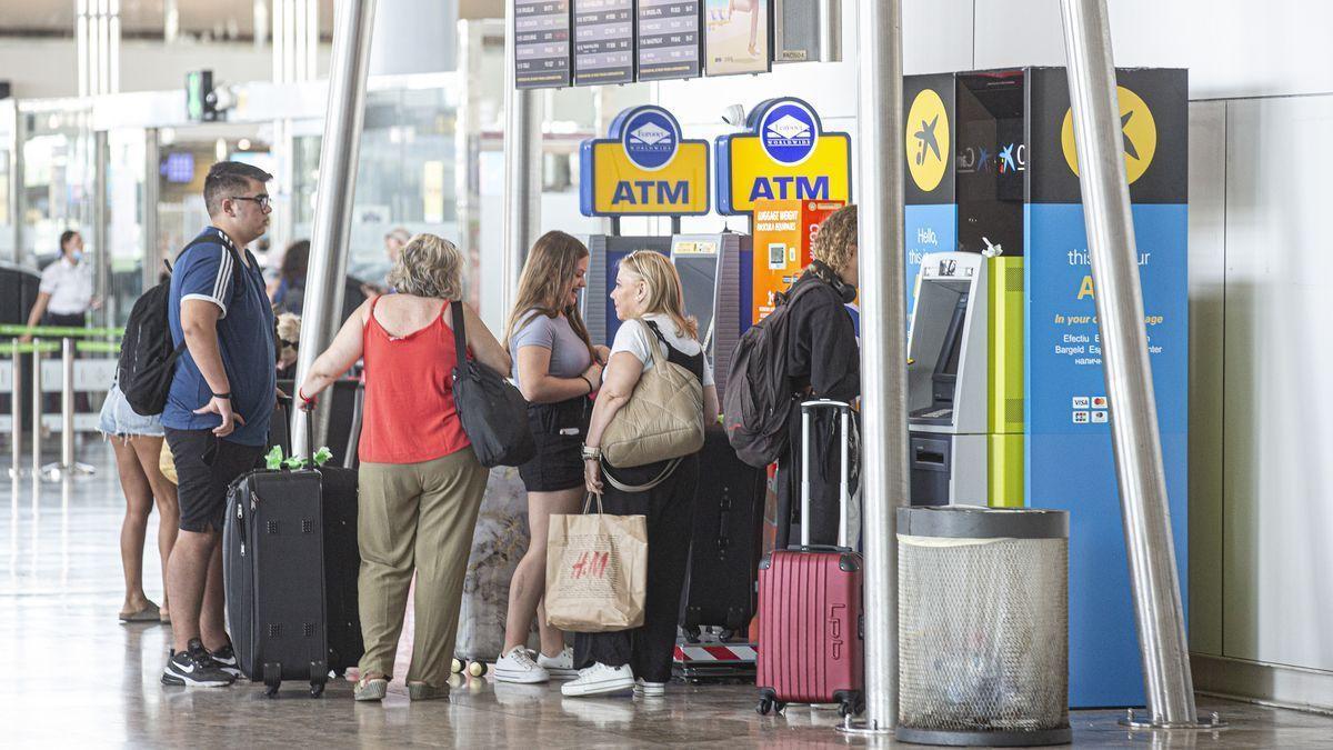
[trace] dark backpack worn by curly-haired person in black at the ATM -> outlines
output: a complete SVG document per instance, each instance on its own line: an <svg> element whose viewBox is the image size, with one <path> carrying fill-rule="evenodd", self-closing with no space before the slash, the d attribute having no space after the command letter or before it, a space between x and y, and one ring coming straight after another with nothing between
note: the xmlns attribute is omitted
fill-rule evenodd
<svg viewBox="0 0 1333 750"><path fill-rule="evenodd" d="M722 426L736 455L750 466L765 468L786 451L788 412L794 396L786 374L788 316L792 303L818 287L824 284L802 279L774 295L773 312L750 326L732 352Z"/></svg>

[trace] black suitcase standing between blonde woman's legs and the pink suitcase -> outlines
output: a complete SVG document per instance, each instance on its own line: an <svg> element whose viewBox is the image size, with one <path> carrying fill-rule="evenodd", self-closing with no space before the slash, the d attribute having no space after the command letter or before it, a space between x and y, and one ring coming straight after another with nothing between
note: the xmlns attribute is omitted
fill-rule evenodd
<svg viewBox="0 0 1333 750"><path fill-rule="evenodd" d="M709 427L698 454L689 578L681 627L690 641L717 626L722 639L745 635L754 615L754 581L764 523L765 474L736 456L726 431Z"/></svg>

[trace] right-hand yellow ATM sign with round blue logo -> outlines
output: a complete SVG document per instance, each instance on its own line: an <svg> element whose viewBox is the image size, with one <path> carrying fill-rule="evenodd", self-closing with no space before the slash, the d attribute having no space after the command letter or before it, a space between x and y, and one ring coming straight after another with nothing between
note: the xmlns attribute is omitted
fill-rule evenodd
<svg viewBox="0 0 1333 750"><path fill-rule="evenodd" d="M749 132L717 139L717 211L749 214L756 200L852 202L852 136L822 132L800 99L770 99Z"/></svg>

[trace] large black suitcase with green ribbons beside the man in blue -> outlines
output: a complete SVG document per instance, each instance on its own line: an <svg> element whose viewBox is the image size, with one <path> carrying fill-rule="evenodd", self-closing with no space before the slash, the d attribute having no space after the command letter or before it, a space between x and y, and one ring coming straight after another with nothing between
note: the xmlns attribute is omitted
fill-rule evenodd
<svg viewBox="0 0 1333 750"><path fill-rule="evenodd" d="M223 548L241 673L264 682L268 695L285 679L309 681L311 694L323 694L329 670L361 655L356 577L347 574L360 566L355 472L241 475L228 490Z"/></svg>

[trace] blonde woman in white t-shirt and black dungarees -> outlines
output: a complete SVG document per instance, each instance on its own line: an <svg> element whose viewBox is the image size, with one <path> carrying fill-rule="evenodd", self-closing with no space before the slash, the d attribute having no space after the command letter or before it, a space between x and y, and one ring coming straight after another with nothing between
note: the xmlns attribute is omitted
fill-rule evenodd
<svg viewBox="0 0 1333 750"><path fill-rule="evenodd" d="M685 585L694 488L698 484L698 454L680 459L665 479L641 492L615 484L603 486L601 436L616 412L629 400L635 386L653 367L649 347L659 362L665 356L704 386L705 424L717 420L717 388L698 343L698 327L685 318L684 296L676 267L666 256L641 250L620 262L616 288L611 292L616 316L624 324L616 332L611 360L603 372L601 391L592 410L584 442L584 476L589 492L603 495L605 512L644 515L648 522L648 589L644 625L616 633L580 633L575 637L579 678L565 683L565 695L607 695L633 689L644 695L663 695L670 679L672 651L680 594ZM621 486L645 486L661 476L669 462L608 471Z"/></svg>

